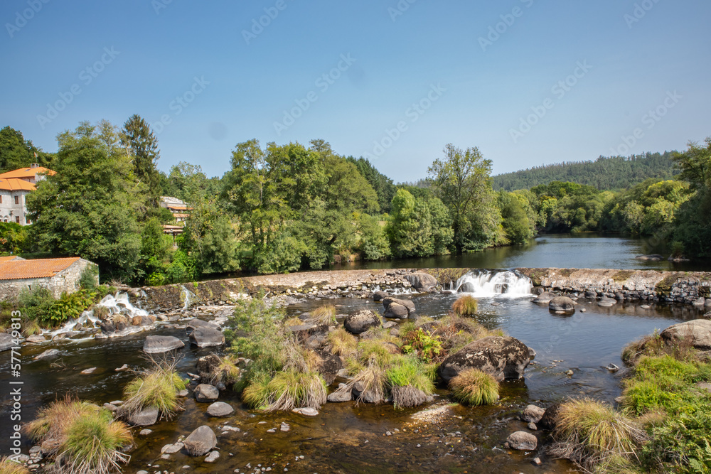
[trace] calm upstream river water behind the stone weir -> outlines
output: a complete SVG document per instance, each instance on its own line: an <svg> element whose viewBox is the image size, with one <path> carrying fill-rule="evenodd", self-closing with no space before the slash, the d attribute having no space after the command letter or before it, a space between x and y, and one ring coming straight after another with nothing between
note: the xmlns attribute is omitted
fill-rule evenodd
<svg viewBox="0 0 711 474"><path fill-rule="evenodd" d="M333 269L389 268L589 268L708 271L711 262L650 262L635 259L637 255L660 253L651 239L633 239L595 232L556 234L538 237L526 245L485 249L462 255L443 255L422 259L399 259L387 262L353 262Z"/></svg>

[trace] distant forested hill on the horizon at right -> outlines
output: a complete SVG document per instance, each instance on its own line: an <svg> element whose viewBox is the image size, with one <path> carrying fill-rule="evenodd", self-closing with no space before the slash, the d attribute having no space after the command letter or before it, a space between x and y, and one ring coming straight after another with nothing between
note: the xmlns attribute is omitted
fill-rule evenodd
<svg viewBox="0 0 711 474"><path fill-rule="evenodd" d="M599 190L624 189L647 178L670 179L678 173L671 161L674 151L634 156L600 156L595 161L573 161L535 166L492 177L495 190L528 189L552 181L572 181Z"/></svg>

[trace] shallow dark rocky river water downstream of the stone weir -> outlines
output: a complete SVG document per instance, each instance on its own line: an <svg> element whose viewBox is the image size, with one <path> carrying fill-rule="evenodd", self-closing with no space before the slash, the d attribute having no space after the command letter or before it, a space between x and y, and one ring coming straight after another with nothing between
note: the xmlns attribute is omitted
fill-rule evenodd
<svg viewBox="0 0 711 474"><path fill-rule="evenodd" d="M417 313L437 318L449 310L456 295L412 296ZM295 315L309 311L324 301L305 301L290 306ZM382 313L380 303L360 299L329 300L338 305L339 313L351 313L370 308ZM495 304L498 303L498 306ZM699 316L690 307L657 305L649 309L636 303L600 308L596 303L579 300L574 316L557 316L547 306L530 303L528 298L493 296L479 298L477 319L488 328L502 328L519 338L538 355L525 372L525 379L505 382L501 387L501 403L478 408L451 404L448 392L439 390L432 404L417 409L395 410L392 405L355 406L326 404L321 414L306 418L295 414L260 414L240 404L234 394L223 392L220 399L230 402L236 413L227 419L208 417L208 404L186 400L186 410L173 421L161 421L151 426L154 433L136 436L137 449L124 472L140 469L176 473L242 473L253 472L257 464L272 467L272 472L296 473L382 473L382 472L468 472L468 473L565 473L572 466L565 461L545 458L542 468L530 460L536 453L509 453L501 450L508 434L524 429L518 413L528 403L547 406L568 397L587 395L612 402L619 395L619 378L603 368L610 362L622 367L619 353L629 341L652 333L656 328ZM121 339L87 340L79 343L64 341L35 348L23 348L23 419L33 419L37 409L65 393L102 404L122 398L122 389L134 374L114 372L127 363L133 370L146 367L141 354L145 336L129 335ZM182 329L159 329L150 334L175 335L188 344ZM31 360L48 348L58 348L60 357L53 360ZM219 351L218 351L219 352ZM210 353L187 345L180 351L183 357L178 370L183 375L195 372L196 359ZM9 387L9 352L0 354L0 387ZM562 362L555 362L562 361ZM81 370L99 367L92 375ZM565 375L573 370L574 375ZM7 452L10 433L10 399L3 392L0 416L0 450ZM292 430L282 433L282 421ZM263 422L263 423L262 423ZM187 435L197 426L208 424L215 430L221 423L239 426L239 433L218 435L220 459L215 465L202 463L202 458L190 458L183 453L161 460L161 447L173 443L181 434ZM277 427L277 433L267 433ZM400 431L395 431L398 429ZM137 433L137 430L134 430ZM386 431L394 433L385 436ZM540 433L539 433L540 434ZM540 441L545 441L545 435ZM419 445L419 446L418 446ZM31 446L26 444L26 448ZM230 456L230 453L232 456ZM296 457L304 459L296 460ZM148 467L148 464L151 467ZM245 469L250 463L252 470ZM181 467L187 465L189 469Z"/></svg>

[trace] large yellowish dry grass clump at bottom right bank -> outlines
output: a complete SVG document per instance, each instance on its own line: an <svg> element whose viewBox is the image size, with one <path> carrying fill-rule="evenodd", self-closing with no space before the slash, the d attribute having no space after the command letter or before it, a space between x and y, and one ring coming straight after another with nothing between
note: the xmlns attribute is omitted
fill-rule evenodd
<svg viewBox="0 0 711 474"><path fill-rule="evenodd" d="M565 402L557 420L555 434L560 441L550 453L587 470L624 466L626 460L637 458L638 448L646 438L633 420L592 399Z"/></svg>

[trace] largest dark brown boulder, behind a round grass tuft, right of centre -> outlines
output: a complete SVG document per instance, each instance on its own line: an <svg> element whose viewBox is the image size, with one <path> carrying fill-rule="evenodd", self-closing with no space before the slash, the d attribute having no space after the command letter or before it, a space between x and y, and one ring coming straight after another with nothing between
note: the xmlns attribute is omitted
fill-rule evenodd
<svg viewBox="0 0 711 474"><path fill-rule="evenodd" d="M473 367L501 382L523 377L523 370L530 360L530 350L520 340L510 336L488 336L447 357L437 372L444 382L449 383L459 372Z"/></svg>

